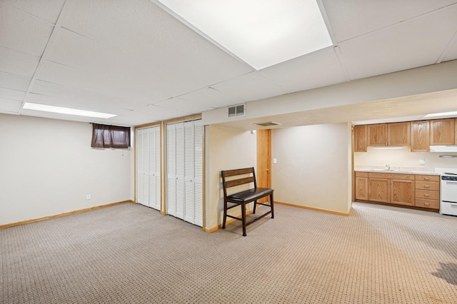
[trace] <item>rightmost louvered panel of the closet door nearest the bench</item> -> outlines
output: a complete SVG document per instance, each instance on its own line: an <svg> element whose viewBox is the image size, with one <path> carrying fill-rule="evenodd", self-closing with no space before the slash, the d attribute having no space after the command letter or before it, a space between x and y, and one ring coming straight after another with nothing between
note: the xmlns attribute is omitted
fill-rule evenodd
<svg viewBox="0 0 457 304"><path fill-rule="evenodd" d="M201 120L194 121L194 224L203 227L203 134Z"/></svg>

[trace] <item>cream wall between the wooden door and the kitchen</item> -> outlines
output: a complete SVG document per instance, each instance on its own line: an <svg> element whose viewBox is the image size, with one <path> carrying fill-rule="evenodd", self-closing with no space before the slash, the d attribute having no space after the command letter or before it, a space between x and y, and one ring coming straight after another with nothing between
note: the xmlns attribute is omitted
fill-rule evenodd
<svg viewBox="0 0 457 304"><path fill-rule="evenodd" d="M338 213L351 210L351 125L299 126L272 132L275 201Z"/></svg>

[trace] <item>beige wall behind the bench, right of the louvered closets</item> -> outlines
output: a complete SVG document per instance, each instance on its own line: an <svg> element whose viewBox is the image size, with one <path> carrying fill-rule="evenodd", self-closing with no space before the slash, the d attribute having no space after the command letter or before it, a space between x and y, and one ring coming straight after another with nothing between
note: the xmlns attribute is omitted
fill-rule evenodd
<svg viewBox="0 0 457 304"><path fill-rule="evenodd" d="M221 171L256 167L257 139L250 131L206 126L206 230L222 223L224 196ZM238 208L234 208L238 209ZM235 210L233 210L235 211ZM236 211L234 212L236 213ZM239 213L239 211L238 211Z"/></svg>

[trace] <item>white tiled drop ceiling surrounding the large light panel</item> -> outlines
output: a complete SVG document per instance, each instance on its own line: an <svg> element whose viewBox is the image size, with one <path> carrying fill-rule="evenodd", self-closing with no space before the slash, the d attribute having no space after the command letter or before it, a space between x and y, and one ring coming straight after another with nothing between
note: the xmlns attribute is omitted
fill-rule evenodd
<svg viewBox="0 0 457 304"><path fill-rule="evenodd" d="M457 59L457 0L322 0L321 8L333 46L256 71L154 1L2 0L0 113L138 126ZM25 102L117 116L31 111Z"/></svg>

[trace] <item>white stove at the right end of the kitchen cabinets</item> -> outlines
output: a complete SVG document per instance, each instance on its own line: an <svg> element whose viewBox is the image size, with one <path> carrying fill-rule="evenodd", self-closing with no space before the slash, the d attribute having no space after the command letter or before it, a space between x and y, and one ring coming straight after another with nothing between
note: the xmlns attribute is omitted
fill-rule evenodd
<svg viewBox="0 0 457 304"><path fill-rule="evenodd" d="M440 173L440 213L457 216L457 168L435 168Z"/></svg>

